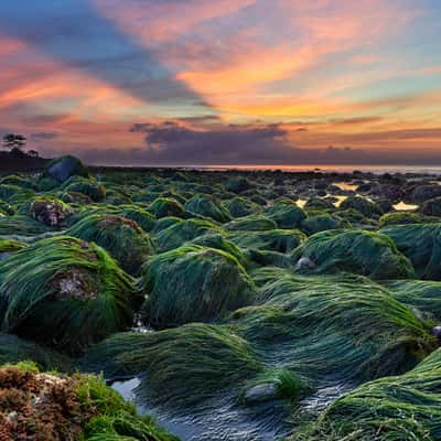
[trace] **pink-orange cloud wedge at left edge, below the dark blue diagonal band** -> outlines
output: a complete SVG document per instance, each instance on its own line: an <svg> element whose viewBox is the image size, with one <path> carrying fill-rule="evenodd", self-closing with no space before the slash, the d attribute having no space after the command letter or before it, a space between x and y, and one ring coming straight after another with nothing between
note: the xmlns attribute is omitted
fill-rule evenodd
<svg viewBox="0 0 441 441"><path fill-rule="evenodd" d="M24 46L20 42L0 40L0 51L3 47L18 51ZM11 51L9 55L13 55ZM41 112L67 111L99 121L123 119L137 115L137 109L146 107L143 100L138 100L83 71L32 52L24 55L24 65L8 63L8 55L3 56L0 108L28 105L39 107Z"/></svg>

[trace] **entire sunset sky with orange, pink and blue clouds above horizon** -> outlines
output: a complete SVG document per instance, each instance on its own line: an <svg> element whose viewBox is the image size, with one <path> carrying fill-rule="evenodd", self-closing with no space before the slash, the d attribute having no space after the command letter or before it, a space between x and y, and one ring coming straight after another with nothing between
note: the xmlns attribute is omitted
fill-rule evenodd
<svg viewBox="0 0 441 441"><path fill-rule="evenodd" d="M96 164L440 164L439 0L1 0L0 133Z"/></svg>

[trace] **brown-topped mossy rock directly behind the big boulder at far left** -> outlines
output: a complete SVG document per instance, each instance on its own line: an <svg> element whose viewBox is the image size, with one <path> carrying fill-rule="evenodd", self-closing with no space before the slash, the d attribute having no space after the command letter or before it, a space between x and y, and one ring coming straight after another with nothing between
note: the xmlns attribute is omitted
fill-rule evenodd
<svg viewBox="0 0 441 441"><path fill-rule="evenodd" d="M138 275L142 263L154 252L149 235L135 220L122 216L93 214L76 223L66 234L96 243L131 275Z"/></svg>

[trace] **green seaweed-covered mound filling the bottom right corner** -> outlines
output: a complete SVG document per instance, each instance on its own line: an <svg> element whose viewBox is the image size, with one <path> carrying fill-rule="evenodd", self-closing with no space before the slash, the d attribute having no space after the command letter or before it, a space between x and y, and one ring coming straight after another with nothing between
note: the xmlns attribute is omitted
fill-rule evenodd
<svg viewBox="0 0 441 441"><path fill-rule="evenodd" d="M409 373L377 379L336 400L291 441L435 441L441 437L441 351Z"/></svg>

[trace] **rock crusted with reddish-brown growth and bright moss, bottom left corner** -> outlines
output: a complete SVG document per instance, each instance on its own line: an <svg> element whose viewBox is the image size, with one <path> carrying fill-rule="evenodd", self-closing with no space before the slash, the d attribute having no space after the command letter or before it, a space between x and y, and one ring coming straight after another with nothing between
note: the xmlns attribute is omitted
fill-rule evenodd
<svg viewBox="0 0 441 441"><path fill-rule="evenodd" d="M6 441L173 441L94 376L0 368L0 434Z"/></svg>

